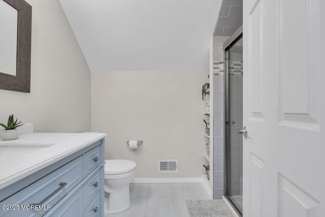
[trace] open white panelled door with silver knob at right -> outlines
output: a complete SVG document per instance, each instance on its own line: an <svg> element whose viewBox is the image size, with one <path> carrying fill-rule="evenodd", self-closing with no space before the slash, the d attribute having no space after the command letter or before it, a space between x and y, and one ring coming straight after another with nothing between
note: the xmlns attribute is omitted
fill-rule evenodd
<svg viewBox="0 0 325 217"><path fill-rule="evenodd" d="M243 6L243 215L325 216L325 1Z"/></svg>

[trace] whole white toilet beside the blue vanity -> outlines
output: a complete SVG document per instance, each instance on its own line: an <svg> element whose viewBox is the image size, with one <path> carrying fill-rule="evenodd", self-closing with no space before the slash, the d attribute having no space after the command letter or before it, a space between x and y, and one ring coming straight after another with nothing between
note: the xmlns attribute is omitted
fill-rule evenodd
<svg viewBox="0 0 325 217"><path fill-rule="evenodd" d="M122 212L131 206L129 184L136 175L137 164L128 160L105 161L105 214Z"/></svg>

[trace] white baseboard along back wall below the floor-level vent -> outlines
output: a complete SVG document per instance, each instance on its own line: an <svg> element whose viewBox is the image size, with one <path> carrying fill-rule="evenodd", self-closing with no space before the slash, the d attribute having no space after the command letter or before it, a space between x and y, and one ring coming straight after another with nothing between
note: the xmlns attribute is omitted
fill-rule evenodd
<svg viewBox="0 0 325 217"><path fill-rule="evenodd" d="M134 178L131 183L188 183L188 182L202 182L201 177L187 177L187 178Z"/></svg>

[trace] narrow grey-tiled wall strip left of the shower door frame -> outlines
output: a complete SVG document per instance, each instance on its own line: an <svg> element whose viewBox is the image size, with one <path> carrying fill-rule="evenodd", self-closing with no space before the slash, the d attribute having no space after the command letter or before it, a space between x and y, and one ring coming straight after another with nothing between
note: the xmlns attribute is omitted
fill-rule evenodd
<svg viewBox="0 0 325 217"><path fill-rule="evenodd" d="M223 60L213 62L213 198L223 196L223 123L224 123L224 69Z"/></svg>

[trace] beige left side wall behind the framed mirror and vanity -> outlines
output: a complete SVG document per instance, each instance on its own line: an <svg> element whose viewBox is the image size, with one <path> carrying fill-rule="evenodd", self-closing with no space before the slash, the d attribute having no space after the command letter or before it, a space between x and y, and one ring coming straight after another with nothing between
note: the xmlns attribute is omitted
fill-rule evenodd
<svg viewBox="0 0 325 217"><path fill-rule="evenodd" d="M35 132L90 130L90 70L58 0L32 6L30 94L0 89L0 122L15 114ZM6 105L6 106L4 106Z"/></svg>

